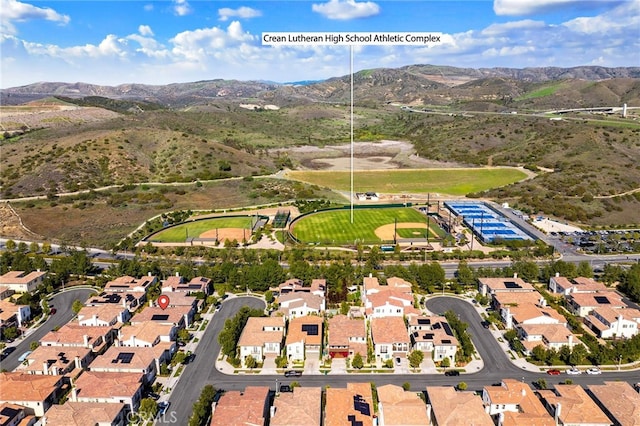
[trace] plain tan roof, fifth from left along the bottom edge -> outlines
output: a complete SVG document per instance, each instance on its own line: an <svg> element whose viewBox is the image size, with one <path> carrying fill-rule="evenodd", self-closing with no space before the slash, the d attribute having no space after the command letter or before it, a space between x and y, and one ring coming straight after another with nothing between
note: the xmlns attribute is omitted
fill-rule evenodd
<svg viewBox="0 0 640 426"><path fill-rule="evenodd" d="M474 392L458 392L452 386L427 386L427 411L434 426L494 426L482 399Z"/></svg>

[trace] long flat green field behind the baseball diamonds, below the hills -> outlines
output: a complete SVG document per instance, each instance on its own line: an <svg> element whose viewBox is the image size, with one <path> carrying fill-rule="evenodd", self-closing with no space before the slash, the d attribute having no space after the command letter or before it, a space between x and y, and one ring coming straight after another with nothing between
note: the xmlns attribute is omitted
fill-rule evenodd
<svg viewBox="0 0 640 426"><path fill-rule="evenodd" d="M349 172L292 171L287 177L340 191L349 191L351 186ZM353 186L356 192L466 195L526 177L526 173L513 168L356 171Z"/></svg>

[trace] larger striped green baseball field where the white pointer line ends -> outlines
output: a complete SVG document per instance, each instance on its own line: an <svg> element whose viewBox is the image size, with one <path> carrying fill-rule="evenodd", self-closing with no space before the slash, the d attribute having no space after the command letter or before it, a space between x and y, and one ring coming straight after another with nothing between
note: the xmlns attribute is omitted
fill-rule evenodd
<svg viewBox="0 0 640 426"><path fill-rule="evenodd" d="M361 241L376 244L393 240L395 221L399 228L398 234L400 228L404 229L407 225L412 230L409 231L410 238L424 238L426 220L424 214L410 207L356 209L353 211L353 223L349 210L329 210L297 220L291 233L302 243L343 245ZM430 237L440 238L444 235L444 231L434 221L430 225ZM422 232L422 235L412 232Z"/></svg>

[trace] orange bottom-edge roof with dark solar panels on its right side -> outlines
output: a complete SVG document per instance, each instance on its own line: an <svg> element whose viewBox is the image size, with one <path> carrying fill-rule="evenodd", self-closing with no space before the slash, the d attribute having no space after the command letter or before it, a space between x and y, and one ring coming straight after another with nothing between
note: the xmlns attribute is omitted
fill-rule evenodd
<svg viewBox="0 0 640 426"><path fill-rule="evenodd" d="M370 383L347 383L327 388L324 426L373 426L373 394Z"/></svg>

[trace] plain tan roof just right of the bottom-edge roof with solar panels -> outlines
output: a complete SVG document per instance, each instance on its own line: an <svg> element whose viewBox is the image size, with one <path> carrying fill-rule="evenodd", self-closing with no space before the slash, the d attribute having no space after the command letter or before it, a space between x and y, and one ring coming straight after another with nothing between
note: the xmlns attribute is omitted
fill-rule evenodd
<svg viewBox="0 0 640 426"><path fill-rule="evenodd" d="M384 426L429 424L427 406L415 392L397 385L378 386L378 423Z"/></svg>

